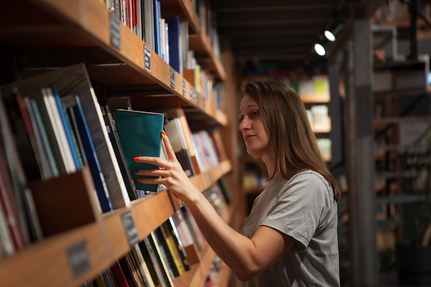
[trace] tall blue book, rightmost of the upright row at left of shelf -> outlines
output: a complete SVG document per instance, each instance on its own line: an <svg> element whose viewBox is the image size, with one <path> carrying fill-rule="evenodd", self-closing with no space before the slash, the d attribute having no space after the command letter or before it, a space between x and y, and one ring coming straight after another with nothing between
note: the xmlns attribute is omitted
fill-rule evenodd
<svg viewBox="0 0 431 287"><path fill-rule="evenodd" d="M81 141L83 143L83 148L85 150L85 155L87 158L88 166L92 173L92 178L94 181L94 186L96 187L96 193L98 201L101 205L101 211L103 213L112 211L112 203L109 198L109 193L107 192L107 187L105 183L105 178L103 177L101 164L98 161L96 150L92 142L90 135L90 130L87 126L87 121L85 120L83 108L81 106L81 100L79 96L75 96L76 105L73 107L74 115L76 120L76 125L78 126L78 132L81 136Z"/></svg>

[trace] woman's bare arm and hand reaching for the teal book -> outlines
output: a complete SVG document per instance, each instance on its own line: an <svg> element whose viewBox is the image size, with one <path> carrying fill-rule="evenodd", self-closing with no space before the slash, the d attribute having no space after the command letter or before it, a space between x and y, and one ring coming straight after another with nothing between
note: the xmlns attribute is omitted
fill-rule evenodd
<svg viewBox="0 0 431 287"><path fill-rule="evenodd" d="M147 184L165 184L171 193L185 202L213 251L233 270L238 279L251 279L292 248L296 240L268 226L260 226L250 239L234 231L191 183L167 136L162 135L162 140L167 149L168 160L145 156L136 158L138 162L159 167L139 171L139 175L156 176L150 179L142 178L140 181Z"/></svg>

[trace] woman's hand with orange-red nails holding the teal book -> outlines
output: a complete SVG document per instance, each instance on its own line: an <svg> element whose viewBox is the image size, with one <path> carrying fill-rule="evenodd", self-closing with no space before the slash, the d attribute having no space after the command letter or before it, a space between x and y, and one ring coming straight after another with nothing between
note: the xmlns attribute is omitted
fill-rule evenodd
<svg viewBox="0 0 431 287"><path fill-rule="evenodd" d="M186 202L193 200L193 195L198 191L191 183L187 174L182 170L180 162L176 158L174 149L169 142L165 131L162 131L162 141L165 144L167 160L150 156L137 156L134 158L136 162L144 162L154 164L158 169L147 169L137 171L138 176L153 176L155 178L140 178L139 182L144 184L164 184L169 191L180 200Z"/></svg>

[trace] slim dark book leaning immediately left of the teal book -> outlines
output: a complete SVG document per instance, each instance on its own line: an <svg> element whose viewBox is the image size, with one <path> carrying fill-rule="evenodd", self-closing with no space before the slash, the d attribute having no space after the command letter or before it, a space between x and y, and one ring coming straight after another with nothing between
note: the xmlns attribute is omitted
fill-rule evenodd
<svg viewBox="0 0 431 287"><path fill-rule="evenodd" d="M136 200L136 198L139 196L136 193L135 182L133 180L132 173L129 170L123 147L121 146L120 138L116 130L114 118L112 117L108 105L102 107L102 114L103 119L105 120L106 129L108 131L109 140L112 142L112 147L114 148L114 153L118 160L118 166L120 167L121 174L124 178L124 184L127 189L127 193L130 200Z"/></svg>

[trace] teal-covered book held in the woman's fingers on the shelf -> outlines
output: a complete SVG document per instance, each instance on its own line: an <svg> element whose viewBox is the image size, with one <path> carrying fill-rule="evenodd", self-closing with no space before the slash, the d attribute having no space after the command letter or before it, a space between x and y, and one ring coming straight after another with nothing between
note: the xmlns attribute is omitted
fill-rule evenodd
<svg viewBox="0 0 431 287"><path fill-rule="evenodd" d="M116 109L115 126L123 147L127 165L132 173L136 189L142 191L157 191L157 184L142 184L134 171L140 169L157 169L153 164L135 162L136 156L160 157L162 147L161 133L163 129L164 114L149 111L133 111Z"/></svg>

